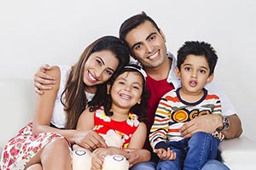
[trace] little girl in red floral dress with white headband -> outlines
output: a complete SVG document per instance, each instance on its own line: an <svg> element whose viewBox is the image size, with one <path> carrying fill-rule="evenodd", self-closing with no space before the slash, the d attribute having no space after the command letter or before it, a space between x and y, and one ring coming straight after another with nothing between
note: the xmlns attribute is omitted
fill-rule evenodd
<svg viewBox="0 0 256 170"><path fill-rule="evenodd" d="M144 123L148 105L145 75L138 65L125 66L114 82L108 83L107 89L96 92L90 106L79 117L78 130L93 129L101 135L117 133L122 141L120 148L99 147L94 150L91 169L101 169L104 156L127 156L130 149L142 150L147 138ZM140 161L150 159L150 152L144 153Z"/></svg>

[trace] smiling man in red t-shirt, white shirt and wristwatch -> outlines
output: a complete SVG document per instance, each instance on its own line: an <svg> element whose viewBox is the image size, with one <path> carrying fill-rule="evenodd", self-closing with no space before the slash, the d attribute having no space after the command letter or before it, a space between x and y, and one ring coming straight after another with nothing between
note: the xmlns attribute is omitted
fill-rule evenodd
<svg viewBox="0 0 256 170"><path fill-rule="evenodd" d="M120 26L119 37L131 49L131 55L138 59L143 65L143 69L147 72L147 85L150 93L148 102L148 133L154 122L154 114L160 98L166 92L180 86L180 81L175 76L174 69L176 67L176 59L172 54L167 54L166 37L154 20L148 17L147 14L137 14L125 20ZM36 92L41 94L38 89L49 89L43 84L51 84L54 82L53 77L44 74L46 69L50 69L44 65L35 74ZM196 132L212 133L216 129L224 133L226 139L239 137L242 133L241 121L236 115L236 111L223 94L218 92L218 89L210 83L206 87L214 94L218 94L223 105L223 115L207 115L198 116L192 121L181 127L181 133L184 138L191 137ZM145 148L152 150L148 141ZM170 154L170 153L167 153ZM152 161L143 162L135 165L132 169L155 169L153 154ZM221 167L221 168L218 168ZM220 161L210 160L206 163L203 169L228 169Z"/></svg>

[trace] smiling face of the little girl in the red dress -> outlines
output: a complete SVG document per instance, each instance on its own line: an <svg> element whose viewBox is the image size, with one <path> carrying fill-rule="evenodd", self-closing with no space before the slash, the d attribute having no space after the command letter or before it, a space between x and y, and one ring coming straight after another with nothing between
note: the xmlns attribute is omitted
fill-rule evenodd
<svg viewBox="0 0 256 170"><path fill-rule="evenodd" d="M108 86L109 92L110 86ZM131 109L140 104L143 94L143 77L136 71L125 71L113 82L110 95L113 105L123 109Z"/></svg>

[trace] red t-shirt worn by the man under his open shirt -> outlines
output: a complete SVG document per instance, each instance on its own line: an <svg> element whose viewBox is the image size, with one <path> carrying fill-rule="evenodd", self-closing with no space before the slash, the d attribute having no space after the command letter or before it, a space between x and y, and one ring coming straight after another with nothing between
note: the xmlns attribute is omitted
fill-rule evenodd
<svg viewBox="0 0 256 170"><path fill-rule="evenodd" d="M148 100L148 122L146 123L147 132L149 134L150 128L154 123L154 115L160 99L163 97L164 94L174 89L174 86L172 85L172 83L167 82L166 79L156 81L152 77L147 76L146 81L150 94ZM144 148L152 150L148 138L146 140Z"/></svg>

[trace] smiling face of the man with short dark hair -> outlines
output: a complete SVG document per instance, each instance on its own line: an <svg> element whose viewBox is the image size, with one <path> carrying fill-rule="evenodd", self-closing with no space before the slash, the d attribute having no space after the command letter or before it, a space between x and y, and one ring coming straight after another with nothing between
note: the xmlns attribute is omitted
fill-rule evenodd
<svg viewBox="0 0 256 170"><path fill-rule="evenodd" d="M167 58L164 34L146 20L137 28L128 32L125 38L133 56L146 69L162 65Z"/></svg>

